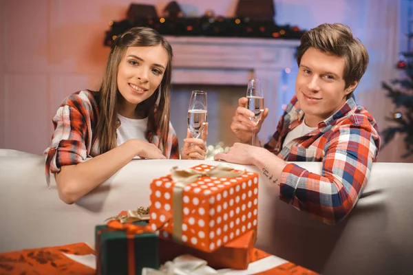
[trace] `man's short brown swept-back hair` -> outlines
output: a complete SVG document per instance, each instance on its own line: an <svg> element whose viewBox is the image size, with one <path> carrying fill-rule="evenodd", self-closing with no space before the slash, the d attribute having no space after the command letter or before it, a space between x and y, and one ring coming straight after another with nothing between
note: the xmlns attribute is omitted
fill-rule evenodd
<svg viewBox="0 0 413 275"><path fill-rule="evenodd" d="M301 43L297 51L298 66L304 52L310 47L326 54L334 54L344 58L343 79L346 82L345 89L354 81L359 81L366 72L368 65L366 47L359 39L354 38L351 29L347 25L325 23L304 33L301 36Z"/></svg>

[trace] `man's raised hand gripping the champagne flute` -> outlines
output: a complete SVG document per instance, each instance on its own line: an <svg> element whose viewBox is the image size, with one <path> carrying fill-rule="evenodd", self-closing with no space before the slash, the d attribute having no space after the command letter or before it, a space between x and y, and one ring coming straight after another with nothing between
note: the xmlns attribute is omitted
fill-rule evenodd
<svg viewBox="0 0 413 275"><path fill-rule="evenodd" d="M235 133L235 136L240 140L240 142L251 144L253 129L255 130L255 135L260 132L262 122L264 122L268 115L268 108L264 109L264 113L262 113L260 120L257 124L255 124L254 120L250 120L250 118L254 116L254 113L246 109L247 102L247 98L240 98L238 100L239 106L233 116L231 130Z"/></svg>

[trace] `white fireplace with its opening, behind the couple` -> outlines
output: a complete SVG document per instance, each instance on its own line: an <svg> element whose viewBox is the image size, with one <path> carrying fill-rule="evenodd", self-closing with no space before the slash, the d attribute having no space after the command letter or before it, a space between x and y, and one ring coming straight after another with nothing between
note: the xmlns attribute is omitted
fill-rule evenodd
<svg viewBox="0 0 413 275"><path fill-rule="evenodd" d="M251 77L264 82L265 106L270 114L259 139L266 142L282 114L277 108L280 77L294 64L299 41L176 36L167 36L167 40L174 55L171 121L180 145L187 129L189 98L196 89L208 92L208 144L231 146L236 141L230 129L232 117Z"/></svg>

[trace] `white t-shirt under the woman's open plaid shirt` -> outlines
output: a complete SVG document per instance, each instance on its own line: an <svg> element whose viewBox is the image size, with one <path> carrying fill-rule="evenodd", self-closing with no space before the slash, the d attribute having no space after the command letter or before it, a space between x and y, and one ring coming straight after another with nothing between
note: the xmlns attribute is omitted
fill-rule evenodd
<svg viewBox="0 0 413 275"><path fill-rule="evenodd" d="M148 127L148 118L134 120L125 118L120 114L118 114L118 118L120 120L120 126L116 129L116 134L118 135L116 144L118 144L118 146L133 138L148 142L145 136Z"/></svg>

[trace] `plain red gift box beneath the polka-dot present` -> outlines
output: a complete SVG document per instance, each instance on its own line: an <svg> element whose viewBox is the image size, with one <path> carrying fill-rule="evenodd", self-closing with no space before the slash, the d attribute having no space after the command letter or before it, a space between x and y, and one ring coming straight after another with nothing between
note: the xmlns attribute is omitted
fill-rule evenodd
<svg viewBox="0 0 413 275"><path fill-rule="evenodd" d="M199 259L207 261L210 267L215 269L232 268L234 270L245 270L251 262L251 251L254 249L255 232L253 230L237 239L222 245L214 252L204 252L186 245L173 243L159 239L159 259L160 263L172 261L183 254L191 254Z"/></svg>

